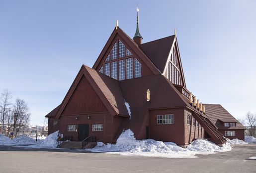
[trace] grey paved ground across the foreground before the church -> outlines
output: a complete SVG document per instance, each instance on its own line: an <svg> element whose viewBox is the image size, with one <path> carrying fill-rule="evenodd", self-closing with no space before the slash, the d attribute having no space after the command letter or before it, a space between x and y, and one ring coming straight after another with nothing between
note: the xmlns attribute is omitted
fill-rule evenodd
<svg viewBox="0 0 256 173"><path fill-rule="evenodd" d="M256 145L230 152L169 159L74 150L0 146L0 173L256 173Z"/></svg>

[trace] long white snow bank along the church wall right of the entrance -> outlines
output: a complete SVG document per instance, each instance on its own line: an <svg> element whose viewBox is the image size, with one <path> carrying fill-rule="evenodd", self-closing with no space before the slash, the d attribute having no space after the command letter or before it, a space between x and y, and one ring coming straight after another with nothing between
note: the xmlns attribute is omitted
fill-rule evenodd
<svg viewBox="0 0 256 173"><path fill-rule="evenodd" d="M89 151L107 152L122 155L140 155L169 158L194 158L196 154L213 154L214 152L230 151L230 144L223 147L204 139L197 139L187 146L181 148L172 142L162 142L153 139L136 140L132 130L125 130L121 133L116 144L97 145Z"/></svg>

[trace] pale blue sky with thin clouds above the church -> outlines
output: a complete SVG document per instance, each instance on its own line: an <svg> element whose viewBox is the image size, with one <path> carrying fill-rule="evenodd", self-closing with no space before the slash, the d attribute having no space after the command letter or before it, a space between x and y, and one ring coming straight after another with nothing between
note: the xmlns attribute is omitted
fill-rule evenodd
<svg viewBox="0 0 256 173"><path fill-rule="evenodd" d="M80 67L92 67L118 19L143 43L173 35L187 88L236 118L256 112L255 0L0 0L0 91L24 99L31 124L59 105Z"/></svg>

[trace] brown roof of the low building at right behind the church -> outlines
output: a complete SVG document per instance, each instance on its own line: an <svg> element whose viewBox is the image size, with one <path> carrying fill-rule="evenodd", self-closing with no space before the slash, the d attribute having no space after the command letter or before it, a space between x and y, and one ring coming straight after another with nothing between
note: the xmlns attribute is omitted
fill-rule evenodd
<svg viewBox="0 0 256 173"><path fill-rule="evenodd" d="M220 129L223 128L223 121L237 122L236 127L230 127L229 129L245 129L245 127L239 123L235 117L233 117L224 107L220 104L205 104L205 113L207 117Z"/></svg>

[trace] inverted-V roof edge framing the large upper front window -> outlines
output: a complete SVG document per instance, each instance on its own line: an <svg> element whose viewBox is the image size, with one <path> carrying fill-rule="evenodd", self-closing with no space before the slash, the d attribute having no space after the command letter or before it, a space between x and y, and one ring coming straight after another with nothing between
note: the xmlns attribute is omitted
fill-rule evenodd
<svg viewBox="0 0 256 173"><path fill-rule="evenodd" d="M152 63L152 61L146 56L146 54L138 47L138 44L136 44L121 28L117 27L117 29L114 29L112 34L110 35L107 43L103 47L102 51L100 52L97 60L95 61L94 65L92 66L93 69L99 68L100 62L102 61L104 55L107 53L107 49L109 48L110 44L113 42L116 35L119 35L120 38L122 38L135 52L142 61L150 68L150 70L155 75L160 75L161 72L158 70L158 68Z"/></svg>

